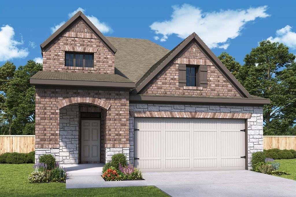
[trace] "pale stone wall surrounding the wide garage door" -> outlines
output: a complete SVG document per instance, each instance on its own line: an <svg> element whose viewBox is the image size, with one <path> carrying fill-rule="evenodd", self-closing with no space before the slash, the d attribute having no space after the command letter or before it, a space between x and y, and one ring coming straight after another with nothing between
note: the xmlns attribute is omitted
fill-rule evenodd
<svg viewBox="0 0 296 197"><path fill-rule="evenodd" d="M252 153L263 151L263 108L252 106L130 104L130 111L251 113L248 119L248 167ZM134 157L134 117L129 118L130 162Z"/></svg>

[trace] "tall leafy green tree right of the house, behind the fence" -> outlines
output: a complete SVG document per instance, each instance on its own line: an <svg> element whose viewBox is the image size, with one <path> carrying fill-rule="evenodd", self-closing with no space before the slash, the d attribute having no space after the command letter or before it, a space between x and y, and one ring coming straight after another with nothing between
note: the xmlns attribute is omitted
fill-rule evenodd
<svg viewBox="0 0 296 197"><path fill-rule="evenodd" d="M283 43L262 41L244 58L237 79L250 94L271 100L264 106L264 134L280 135L295 124L295 56Z"/></svg>

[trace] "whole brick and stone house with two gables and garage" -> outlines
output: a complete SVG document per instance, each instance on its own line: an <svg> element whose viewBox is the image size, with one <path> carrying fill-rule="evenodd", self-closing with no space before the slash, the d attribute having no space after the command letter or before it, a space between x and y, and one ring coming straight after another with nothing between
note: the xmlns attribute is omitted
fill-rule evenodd
<svg viewBox="0 0 296 197"><path fill-rule="evenodd" d="M105 163L142 171L248 169L263 150L263 105L192 33L173 50L105 37L76 13L41 44L36 162Z"/></svg>

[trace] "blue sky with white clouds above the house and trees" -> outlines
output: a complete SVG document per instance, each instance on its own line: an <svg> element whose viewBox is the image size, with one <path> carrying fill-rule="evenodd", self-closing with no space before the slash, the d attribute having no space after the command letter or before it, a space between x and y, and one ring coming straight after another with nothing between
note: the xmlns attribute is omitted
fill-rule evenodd
<svg viewBox="0 0 296 197"><path fill-rule="evenodd" d="M105 36L144 38L173 49L193 31L218 56L243 64L258 42L296 54L296 1L0 1L0 65L41 59L40 44L83 9Z"/></svg>

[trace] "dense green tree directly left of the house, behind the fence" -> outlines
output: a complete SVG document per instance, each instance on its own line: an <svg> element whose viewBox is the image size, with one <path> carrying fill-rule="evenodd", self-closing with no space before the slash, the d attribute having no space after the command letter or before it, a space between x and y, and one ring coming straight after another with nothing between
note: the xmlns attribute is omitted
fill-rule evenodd
<svg viewBox="0 0 296 197"><path fill-rule="evenodd" d="M9 125L9 134L12 129L16 134L35 133L35 87L30 85L30 77L39 70L42 64L29 60L0 86L3 91L0 109L2 119Z"/></svg>

